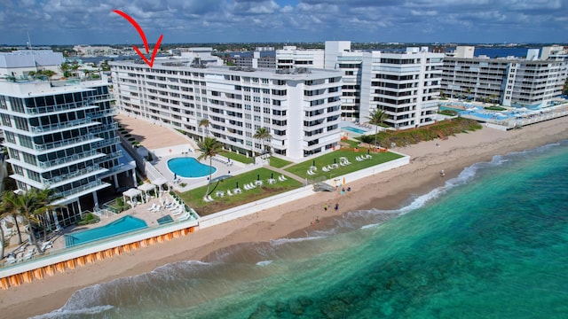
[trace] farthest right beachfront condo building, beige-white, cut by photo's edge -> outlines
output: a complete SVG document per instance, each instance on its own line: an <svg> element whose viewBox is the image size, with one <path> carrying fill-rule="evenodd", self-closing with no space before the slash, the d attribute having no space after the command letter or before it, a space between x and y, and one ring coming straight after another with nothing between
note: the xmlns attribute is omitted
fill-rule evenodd
<svg viewBox="0 0 568 319"><path fill-rule="evenodd" d="M446 97L542 107L562 94L568 63L564 51L544 48L540 58L534 50L527 58L489 58L473 57L472 47L467 48L458 47L444 58L441 90Z"/></svg>

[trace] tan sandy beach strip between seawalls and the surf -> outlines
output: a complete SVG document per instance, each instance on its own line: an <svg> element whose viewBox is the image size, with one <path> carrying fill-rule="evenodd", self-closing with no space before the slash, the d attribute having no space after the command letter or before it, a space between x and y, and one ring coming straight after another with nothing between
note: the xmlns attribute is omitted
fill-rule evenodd
<svg viewBox="0 0 568 319"><path fill-rule="evenodd" d="M338 192L318 193L170 242L0 291L0 314L4 318L44 314L62 307L73 292L85 286L135 276L170 262L203 260L210 253L231 245L301 236L301 230L323 228L327 220L346 212L404 206L409 198L442 186L446 179L471 164L490 160L493 155L523 151L563 139L568 139L568 117L512 131L483 128L450 136L444 141L393 149L410 155L410 164L359 181L346 181L351 191L344 195ZM438 174L441 169L446 172L444 178ZM339 204L338 211L323 209L324 205L333 207L335 203ZM321 222L311 226L316 216Z"/></svg>

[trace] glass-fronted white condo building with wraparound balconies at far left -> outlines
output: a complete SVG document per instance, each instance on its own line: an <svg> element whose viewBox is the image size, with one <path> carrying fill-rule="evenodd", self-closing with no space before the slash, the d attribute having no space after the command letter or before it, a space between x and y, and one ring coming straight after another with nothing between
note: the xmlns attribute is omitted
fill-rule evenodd
<svg viewBox="0 0 568 319"><path fill-rule="evenodd" d="M98 191L134 173L122 158L106 76L98 81L36 80L15 74L0 80L0 118L13 178L20 190L56 190L54 229L99 206ZM130 177L131 179L132 177ZM55 222L58 225L55 225Z"/></svg>

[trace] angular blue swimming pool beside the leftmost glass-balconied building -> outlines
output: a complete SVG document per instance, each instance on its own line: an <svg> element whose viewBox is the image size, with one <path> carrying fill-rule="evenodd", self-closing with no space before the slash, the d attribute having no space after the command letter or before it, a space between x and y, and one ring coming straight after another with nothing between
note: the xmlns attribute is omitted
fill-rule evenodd
<svg viewBox="0 0 568 319"><path fill-rule="evenodd" d="M83 245L99 239L113 237L145 228L148 228L146 222L128 215L105 226L65 235L65 245L67 248L75 245Z"/></svg>

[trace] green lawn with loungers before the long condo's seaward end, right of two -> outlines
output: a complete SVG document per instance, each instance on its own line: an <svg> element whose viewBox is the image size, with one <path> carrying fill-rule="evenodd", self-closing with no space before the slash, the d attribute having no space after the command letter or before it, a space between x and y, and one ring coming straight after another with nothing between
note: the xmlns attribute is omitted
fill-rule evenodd
<svg viewBox="0 0 568 319"><path fill-rule="evenodd" d="M359 152L354 152L353 149L341 149L334 152L329 152L327 154L319 156L317 159L310 159L304 162L298 163L294 166L286 168L286 171L298 175L303 178L308 179L331 179L334 176L345 175L351 172L358 171L363 168L367 167L374 167L375 165L383 164L393 159L399 159L402 156L398 155L393 152L371 152L371 159L365 159L362 161L358 161L356 158L361 155L366 155L367 149L366 148L359 148ZM327 167L327 165L339 164L339 158L344 157L347 158L351 165L347 166L339 166L334 168L328 172L325 172L322 167ZM308 175L307 171L312 167L313 162L315 162L315 166L318 167L317 171L315 171L315 175Z"/></svg>

